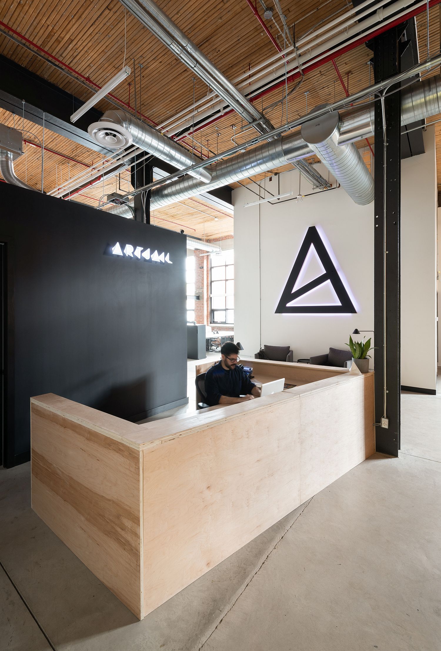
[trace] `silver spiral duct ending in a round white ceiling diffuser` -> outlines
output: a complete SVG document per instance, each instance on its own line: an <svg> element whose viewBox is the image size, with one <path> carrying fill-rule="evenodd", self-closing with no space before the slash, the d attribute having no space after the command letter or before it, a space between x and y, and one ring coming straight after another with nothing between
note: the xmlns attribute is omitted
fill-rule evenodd
<svg viewBox="0 0 441 651"><path fill-rule="evenodd" d="M120 149L133 144L178 169L200 163L199 158L191 156L167 135L120 109L106 111L98 122L90 124L88 133L101 146ZM206 169L196 169L191 174L204 183L211 180L211 174Z"/></svg>

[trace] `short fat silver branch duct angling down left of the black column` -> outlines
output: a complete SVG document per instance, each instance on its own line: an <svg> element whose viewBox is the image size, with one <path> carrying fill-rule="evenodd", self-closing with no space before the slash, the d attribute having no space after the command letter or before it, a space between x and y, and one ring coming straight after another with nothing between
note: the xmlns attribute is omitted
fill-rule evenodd
<svg viewBox="0 0 441 651"><path fill-rule="evenodd" d="M354 143L338 145L340 125L338 111L325 113L302 124L302 137L349 197L366 206L373 201L373 178Z"/></svg>

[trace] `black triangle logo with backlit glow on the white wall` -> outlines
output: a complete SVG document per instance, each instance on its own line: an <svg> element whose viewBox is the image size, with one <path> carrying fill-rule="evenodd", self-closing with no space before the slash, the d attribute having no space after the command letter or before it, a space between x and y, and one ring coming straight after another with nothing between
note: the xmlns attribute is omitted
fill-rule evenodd
<svg viewBox="0 0 441 651"><path fill-rule="evenodd" d="M311 226L306 231L276 314L355 313L353 302L319 232Z"/></svg>

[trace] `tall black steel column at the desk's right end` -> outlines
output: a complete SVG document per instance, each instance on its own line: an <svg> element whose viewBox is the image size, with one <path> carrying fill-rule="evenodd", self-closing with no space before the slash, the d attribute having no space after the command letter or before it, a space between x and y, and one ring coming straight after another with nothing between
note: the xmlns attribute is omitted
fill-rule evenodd
<svg viewBox="0 0 441 651"><path fill-rule="evenodd" d="M398 41L401 31L402 29L395 27L373 40L373 69L376 82L399 72ZM395 86L390 90L396 90L396 88ZM386 170L384 170L382 105L380 100L375 102L375 422L381 423L384 417L388 419L388 423L383 421L384 424L388 424L387 427L378 425L375 429L377 452L392 456L398 456L400 436L400 111L400 92L398 91L384 99L387 143ZM384 187L386 190L385 211ZM386 239L384 240L384 238ZM384 246L384 242L386 242L386 246ZM385 301L384 298L386 298ZM385 348L384 313L386 314ZM384 358L386 358L387 391L385 411Z"/></svg>

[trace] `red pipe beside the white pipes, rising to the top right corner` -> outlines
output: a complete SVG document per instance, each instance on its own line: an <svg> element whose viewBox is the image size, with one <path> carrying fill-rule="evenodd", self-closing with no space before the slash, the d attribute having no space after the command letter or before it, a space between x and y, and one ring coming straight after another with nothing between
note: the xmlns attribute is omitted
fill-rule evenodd
<svg viewBox="0 0 441 651"><path fill-rule="evenodd" d="M436 7L436 5L439 5L440 3L441 0L429 0L429 9L431 7ZM308 72L311 72L312 70L317 70L317 68L321 68L321 66L324 66L328 62L332 61L332 59L336 59L337 57L340 57L341 55L350 52L355 48L358 48L359 45L363 45L368 40L371 40L371 38L375 38L375 36L379 36L380 34L383 34L389 29L392 29L392 27L396 27L396 25L401 25L401 23L404 23L409 18L414 18L415 16L418 16L418 14L422 14L426 10L427 10L427 5L410 10L407 14L401 16L401 18L397 18L396 20L393 20L392 22L388 23L388 25L383 25L383 27L379 27L378 29L375 29L373 32L370 32L368 35L360 36L360 38L355 40L353 43L347 46L343 46L342 48L338 49L336 52L333 52L332 54L327 55L327 57L320 59L320 61L312 62L309 65L304 64L302 68L303 74L306 75L308 74ZM298 79L299 77L300 77L300 73L295 72L291 76L287 77L287 83L291 83L291 81L295 81L295 79ZM250 100L250 102L256 102L256 100L260 100L265 95L269 94L270 92L273 92L273 90L277 90L281 88L284 85L285 85L285 79L282 79L281 81L276 81L273 86L270 86L265 90L262 90L254 97L248 98L248 100ZM218 120L221 120L222 118L226 117L226 115L230 115L233 112L234 112L233 109L229 109L228 111L225 111L222 115L217 115L215 118L213 118L213 120L210 120L209 122L206 122L206 124L201 124L200 126L196 127L194 129L194 133L200 131L201 129L207 128L207 126L209 126L210 124L214 124ZM191 135L191 133L193 132L188 133L187 136ZM178 140L181 140L181 138L187 136L181 136L180 138L178 138Z"/></svg>

